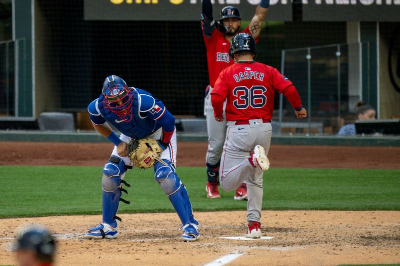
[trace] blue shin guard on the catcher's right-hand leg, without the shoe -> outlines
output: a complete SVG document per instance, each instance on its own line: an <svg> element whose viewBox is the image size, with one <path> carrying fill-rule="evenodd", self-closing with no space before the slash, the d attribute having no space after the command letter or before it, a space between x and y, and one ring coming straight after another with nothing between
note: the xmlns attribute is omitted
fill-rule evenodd
<svg viewBox="0 0 400 266"><path fill-rule="evenodd" d="M174 168L170 165L164 166L160 162L154 165L155 180L161 186L162 191L168 196L182 225L194 223L191 204L186 188L180 182Z"/></svg>

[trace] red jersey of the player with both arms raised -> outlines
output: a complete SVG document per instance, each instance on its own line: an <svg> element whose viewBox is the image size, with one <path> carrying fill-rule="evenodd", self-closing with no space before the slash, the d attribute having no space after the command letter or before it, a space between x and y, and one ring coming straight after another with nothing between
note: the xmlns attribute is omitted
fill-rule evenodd
<svg viewBox="0 0 400 266"><path fill-rule="evenodd" d="M249 33L250 30L246 27L242 32ZM222 69L233 64L234 59L229 58L230 42L225 39L225 35L220 33L216 28L211 36L207 37L203 33L205 49L207 50L207 64L209 84L214 87L214 83L218 78ZM258 38L255 40L258 41Z"/></svg>

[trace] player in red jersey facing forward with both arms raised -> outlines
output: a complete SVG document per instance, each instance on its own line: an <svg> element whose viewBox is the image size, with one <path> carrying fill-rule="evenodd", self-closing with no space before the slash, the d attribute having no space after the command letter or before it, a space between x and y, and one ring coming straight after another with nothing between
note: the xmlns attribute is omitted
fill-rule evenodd
<svg viewBox="0 0 400 266"><path fill-rule="evenodd" d="M250 33L257 40L261 31L262 22L265 19L269 7L269 0L261 0L255 10L255 14L248 27L242 32ZM239 31L240 13L236 7L225 6L220 11L219 19L213 20L212 5L210 0L202 1L201 27L205 48L207 50L209 85L205 89L204 115L207 123L208 149L205 156L207 167L207 197L219 198L219 162L225 139L226 121L217 123L214 120L214 110L211 106L210 92L214 87L215 80L219 73L227 66L233 64L229 58L228 50L232 37ZM224 108L224 107L223 107ZM243 183L237 189L235 200L246 200L247 190Z"/></svg>

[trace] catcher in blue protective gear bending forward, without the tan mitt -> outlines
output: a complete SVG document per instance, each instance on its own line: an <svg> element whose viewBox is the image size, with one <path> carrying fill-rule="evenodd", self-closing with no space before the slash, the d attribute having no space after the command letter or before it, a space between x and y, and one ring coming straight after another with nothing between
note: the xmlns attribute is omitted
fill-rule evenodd
<svg viewBox="0 0 400 266"><path fill-rule="evenodd" d="M88 239L114 239L118 236L116 216L119 201L127 184L123 178L132 161L128 157L127 143L131 139L152 138L157 140L162 152L161 162L154 163L154 177L161 190L168 196L182 226L182 241L195 241L199 238L198 222L193 218L191 204L186 188L175 173L176 132L175 118L164 104L142 89L128 87L118 76L108 76L103 83L102 94L88 106L90 120L94 129L115 146L111 157L102 170L102 222L90 228ZM121 135L118 137L108 124L113 125ZM129 153L130 156L130 153Z"/></svg>

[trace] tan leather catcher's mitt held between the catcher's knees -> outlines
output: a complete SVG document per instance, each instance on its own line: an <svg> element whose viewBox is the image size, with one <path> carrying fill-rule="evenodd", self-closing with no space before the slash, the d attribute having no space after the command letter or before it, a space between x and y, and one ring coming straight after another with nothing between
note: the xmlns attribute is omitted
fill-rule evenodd
<svg viewBox="0 0 400 266"><path fill-rule="evenodd" d="M166 165L159 155L162 149L155 139L131 139L127 147L128 157L137 168L145 169L154 165L155 160Z"/></svg>

